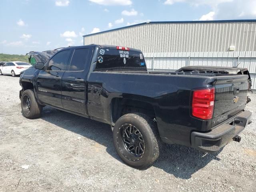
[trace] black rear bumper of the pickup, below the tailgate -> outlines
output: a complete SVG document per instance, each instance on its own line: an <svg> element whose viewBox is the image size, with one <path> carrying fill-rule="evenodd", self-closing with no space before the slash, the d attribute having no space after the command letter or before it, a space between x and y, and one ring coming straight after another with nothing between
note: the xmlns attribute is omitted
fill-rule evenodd
<svg viewBox="0 0 256 192"><path fill-rule="evenodd" d="M216 126L210 132L191 133L191 145L197 150L214 153L228 144L237 134L239 134L249 123L252 113L243 111L232 119Z"/></svg>

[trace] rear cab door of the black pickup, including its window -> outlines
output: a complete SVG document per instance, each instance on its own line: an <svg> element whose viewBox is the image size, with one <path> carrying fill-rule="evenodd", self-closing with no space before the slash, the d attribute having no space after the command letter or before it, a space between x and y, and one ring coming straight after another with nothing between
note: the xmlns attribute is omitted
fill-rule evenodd
<svg viewBox="0 0 256 192"><path fill-rule="evenodd" d="M91 48L76 48L72 53L70 64L62 77L62 105L66 110L87 114L86 76L90 67Z"/></svg>

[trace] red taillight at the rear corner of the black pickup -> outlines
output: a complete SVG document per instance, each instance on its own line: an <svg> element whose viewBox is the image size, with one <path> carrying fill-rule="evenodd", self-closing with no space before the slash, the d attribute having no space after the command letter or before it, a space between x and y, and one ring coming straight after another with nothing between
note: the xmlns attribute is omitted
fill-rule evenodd
<svg viewBox="0 0 256 192"><path fill-rule="evenodd" d="M193 91L192 115L208 120L213 116L215 100L215 88L207 88Z"/></svg>

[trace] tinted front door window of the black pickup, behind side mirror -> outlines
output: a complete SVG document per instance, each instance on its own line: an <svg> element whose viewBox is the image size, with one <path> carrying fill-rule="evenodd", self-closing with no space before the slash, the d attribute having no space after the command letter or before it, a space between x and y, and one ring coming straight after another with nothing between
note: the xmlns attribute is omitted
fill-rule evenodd
<svg viewBox="0 0 256 192"><path fill-rule="evenodd" d="M66 70L69 56L70 56L70 50L64 50L64 51L58 52L49 61L48 70L51 70L51 71Z"/></svg>

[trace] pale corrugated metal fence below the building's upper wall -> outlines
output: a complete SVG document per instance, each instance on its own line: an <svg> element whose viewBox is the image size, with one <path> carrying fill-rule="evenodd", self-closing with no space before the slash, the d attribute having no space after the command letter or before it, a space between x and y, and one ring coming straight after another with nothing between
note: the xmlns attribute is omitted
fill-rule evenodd
<svg viewBox="0 0 256 192"><path fill-rule="evenodd" d="M256 74L256 52L174 52L144 53L149 69L176 70L183 66L222 66L248 68ZM153 67L154 58L154 67Z"/></svg>

